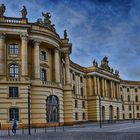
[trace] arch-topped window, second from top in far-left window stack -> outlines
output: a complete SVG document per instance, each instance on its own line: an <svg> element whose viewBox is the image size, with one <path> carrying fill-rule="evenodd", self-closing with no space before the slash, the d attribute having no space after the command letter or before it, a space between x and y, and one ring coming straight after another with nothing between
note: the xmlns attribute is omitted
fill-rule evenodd
<svg viewBox="0 0 140 140"><path fill-rule="evenodd" d="M18 78L19 77L19 67L17 64L10 65L10 77Z"/></svg>

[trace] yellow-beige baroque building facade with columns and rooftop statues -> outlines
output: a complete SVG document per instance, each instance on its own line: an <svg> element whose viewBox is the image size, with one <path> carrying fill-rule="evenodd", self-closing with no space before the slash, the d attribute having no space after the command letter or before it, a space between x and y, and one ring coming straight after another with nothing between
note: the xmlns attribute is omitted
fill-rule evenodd
<svg viewBox="0 0 140 140"><path fill-rule="evenodd" d="M82 67L70 60L66 30L56 33L49 13L29 23L6 17L0 7L0 124L28 125L28 92L32 127L72 125L88 121L139 119L140 83L124 81L109 67ZM135 115L133 115L133 107Z"/></svg>

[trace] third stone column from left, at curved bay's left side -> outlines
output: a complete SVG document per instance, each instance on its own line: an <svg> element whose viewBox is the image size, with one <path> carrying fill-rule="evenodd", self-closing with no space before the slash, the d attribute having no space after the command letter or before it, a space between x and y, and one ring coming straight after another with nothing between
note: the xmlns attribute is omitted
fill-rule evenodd
<svg viewBox="0 0 140 140"><path fill-rule="evenodd" d="M39 41L34 42L34 78L40 79L40 53L39 53Z"/></svg>

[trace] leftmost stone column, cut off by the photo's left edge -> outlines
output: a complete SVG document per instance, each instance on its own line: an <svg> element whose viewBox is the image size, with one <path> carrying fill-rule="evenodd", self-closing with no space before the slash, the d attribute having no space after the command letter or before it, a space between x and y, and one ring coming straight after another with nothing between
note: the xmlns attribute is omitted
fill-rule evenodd
<svg viewBox="0 0 140 140"><path fill-rule="evenodd" d="M0 34L0 76L5 75L5 35Z"/></svg>

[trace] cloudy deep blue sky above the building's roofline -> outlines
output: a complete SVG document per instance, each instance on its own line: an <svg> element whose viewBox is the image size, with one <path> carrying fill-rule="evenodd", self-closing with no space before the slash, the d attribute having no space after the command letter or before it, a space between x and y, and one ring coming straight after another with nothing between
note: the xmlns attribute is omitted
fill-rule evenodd
<svg viewBox="0 0 140 140"><path fill-rule="evenodd" d="M60 37L67 29L73 44L70 58L81 66L108 57L121 79L140 81L140 0L0 0L5 16L21 17L25 5L29 22L51 13Z"/></svg>

